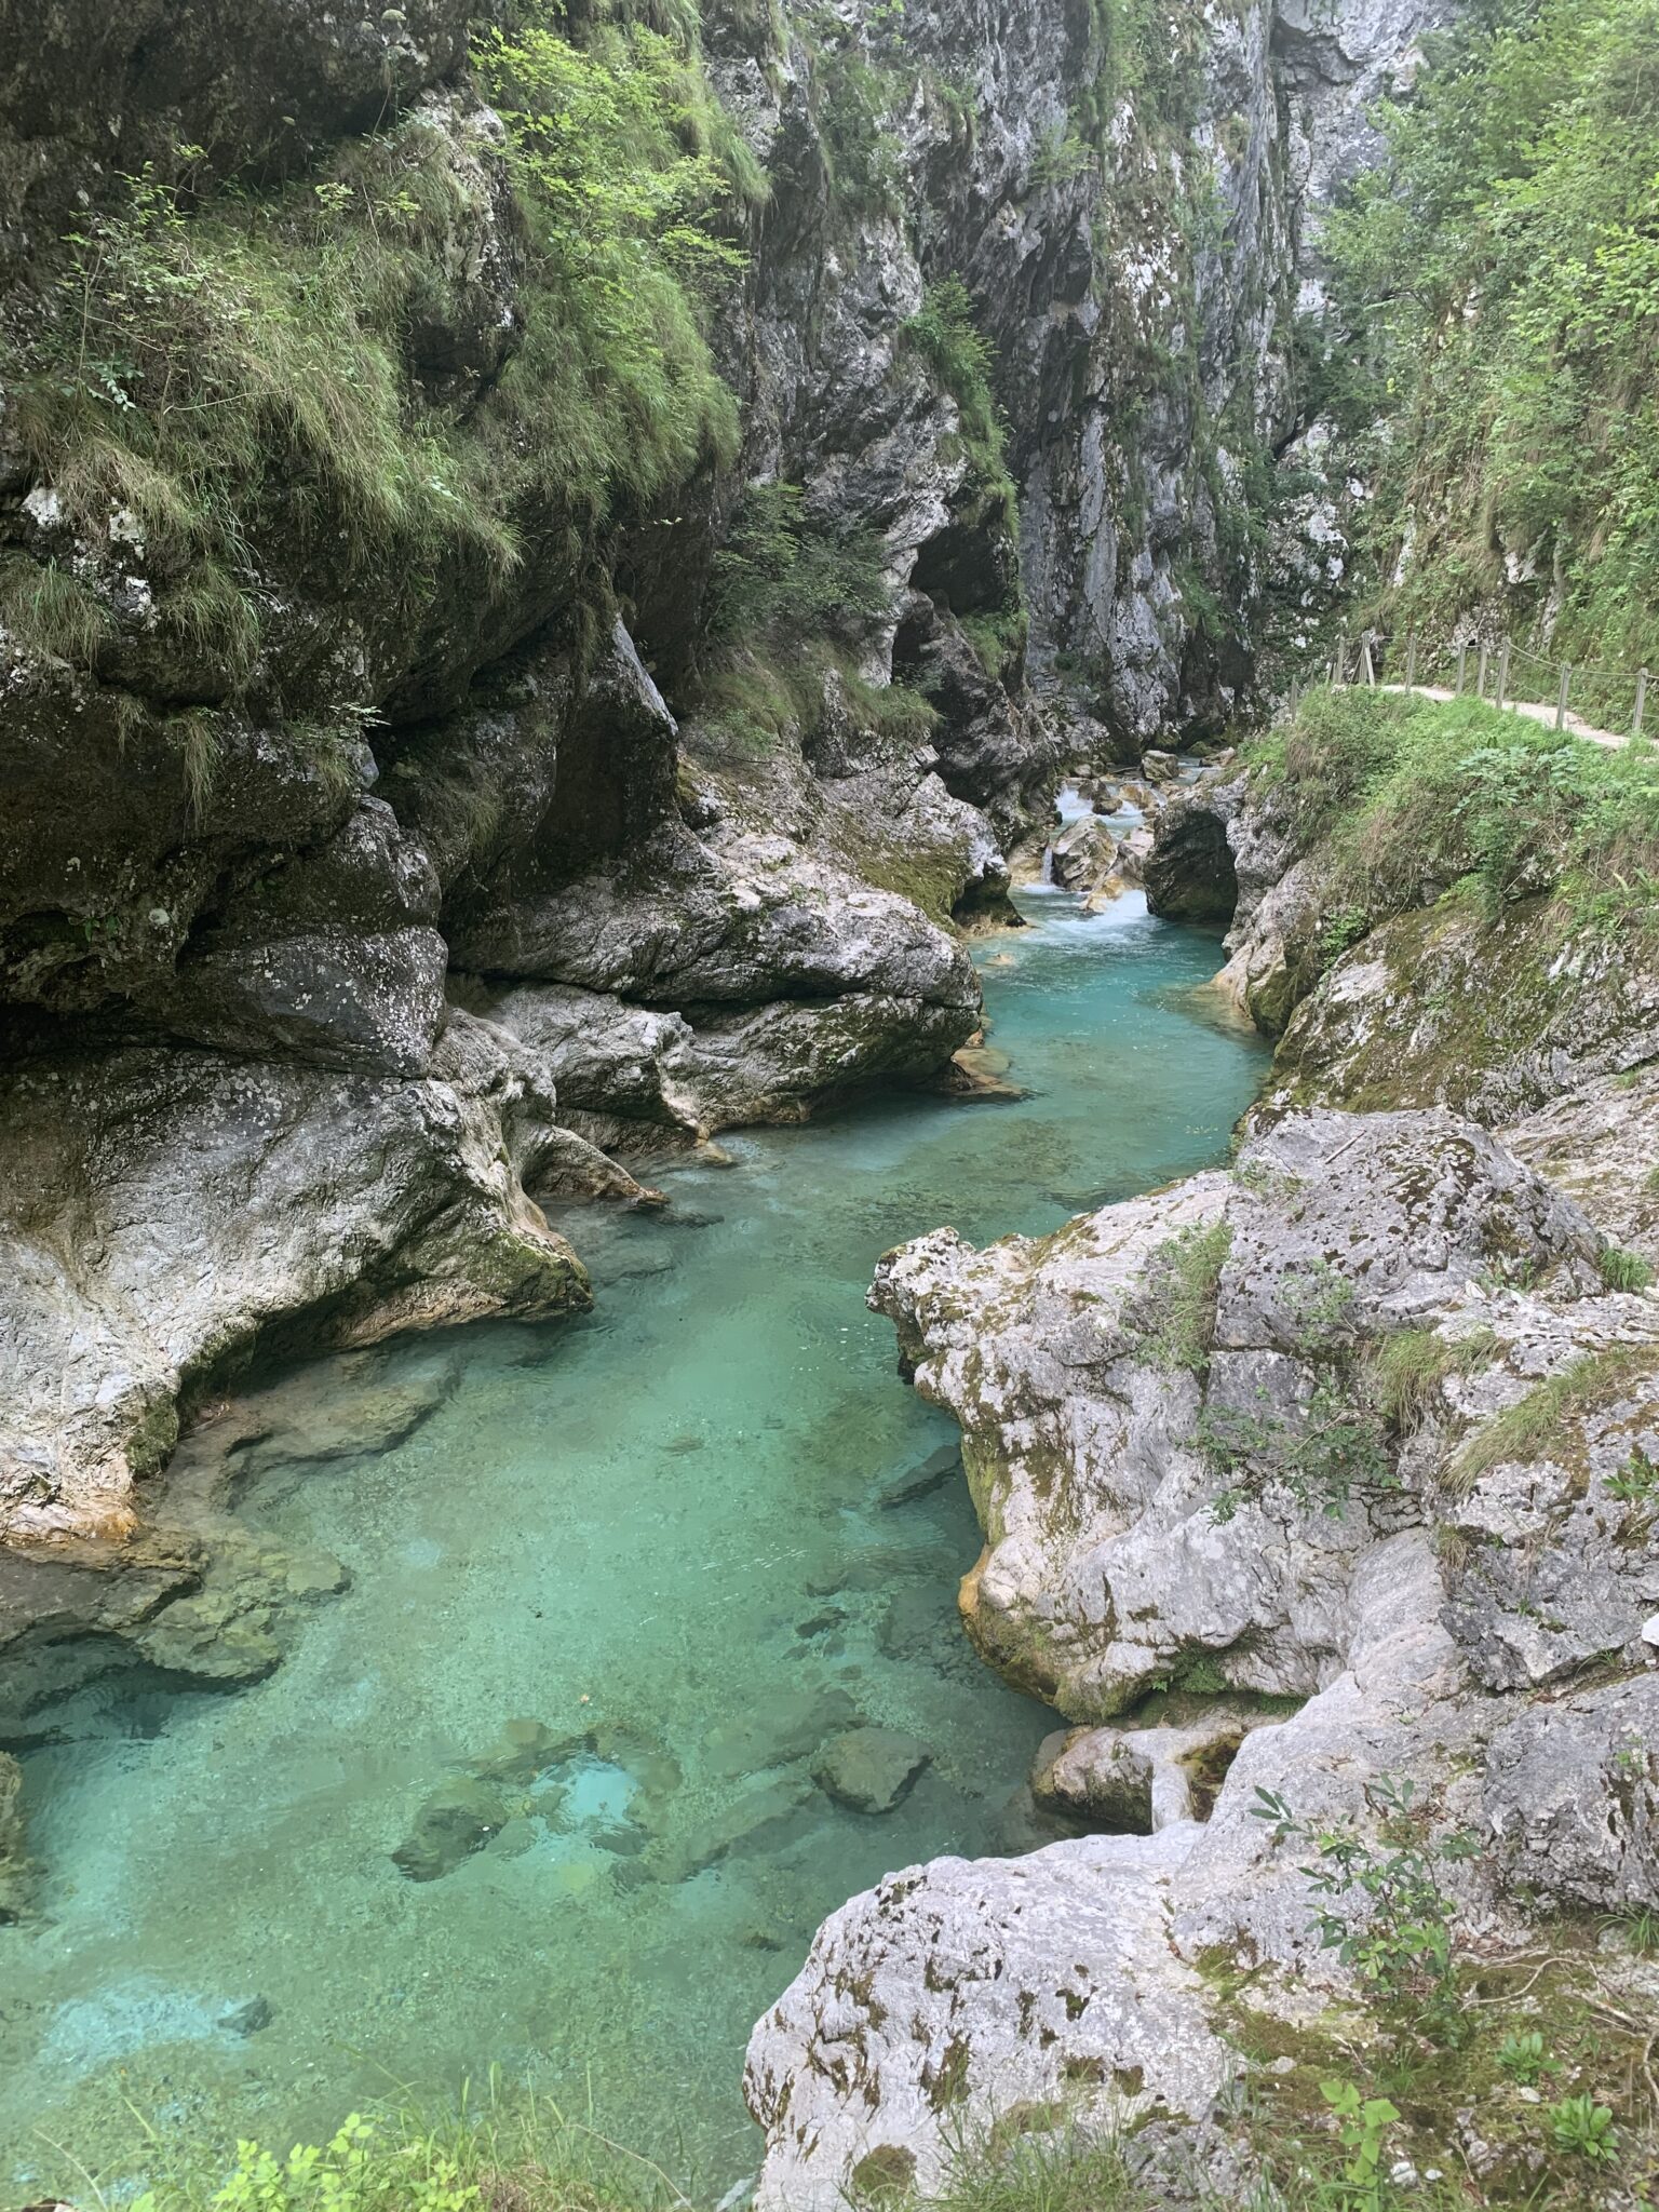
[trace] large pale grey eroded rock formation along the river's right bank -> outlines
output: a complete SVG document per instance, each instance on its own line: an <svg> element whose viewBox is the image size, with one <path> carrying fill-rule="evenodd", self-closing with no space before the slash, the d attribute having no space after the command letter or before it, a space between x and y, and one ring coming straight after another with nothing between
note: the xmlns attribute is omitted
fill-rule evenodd
<svg viewBox="0 0 1659 2212"><path fill-rule="evenodd" d="M1500 1951L1524 1898L1652 1900L1659 1544L1630 1469L1659 1451L1659 1307L1604 1287L1601 1248L1431 1110L1292 1115L1053 1237L883 1261L872 1303L962 1422L969 1632L1088 1723L1040 1787L1139 1834L914 1867L830 1920L750 2046L761 2203L929 2188L1011 2112L1175 2119L1225 2159L1241 2017L1352 1993L1261 1792L1323 1825L1409 1785L1480 1838L1451 1880ZM1170 1686L1186 1721L1146 1725Z"/></svg>

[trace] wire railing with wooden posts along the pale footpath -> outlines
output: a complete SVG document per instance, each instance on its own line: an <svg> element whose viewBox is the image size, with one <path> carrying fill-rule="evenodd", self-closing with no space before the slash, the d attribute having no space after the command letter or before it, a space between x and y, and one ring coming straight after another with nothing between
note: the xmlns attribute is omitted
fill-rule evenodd
<svg viewBox="0 0 1659 2212"><path fill-rule="evenodd" d="M1542 686L1537 686L1540 675L1546 679ZM1336 690L1371 686L1422 692L1431 699L1480 699L1601 745L1639 739L1648 710L1646 668L1630 672L1601 661L1551 661L1511 639L1498 646L1478 639L1429 641L1416 630L1405 639L1376 633L1343 637L1325 679ZM1528 697L1533 688L1540 688L1542 697ZM1303 690L1303 684L1290 686L1292 712ZM1606 717L1608 726L1590 723L1588 714Z"/></svg>

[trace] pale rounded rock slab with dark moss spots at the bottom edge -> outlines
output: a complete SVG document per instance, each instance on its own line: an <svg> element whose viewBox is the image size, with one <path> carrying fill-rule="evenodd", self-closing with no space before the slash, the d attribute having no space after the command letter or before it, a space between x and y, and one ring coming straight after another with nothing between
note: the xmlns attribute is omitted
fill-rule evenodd
<svg viewBox="0 0 1659 2212"><path fill-rule="evenodd" d="M843 1905L750 2039L761 2212L832 2212L874 2179L931 2190L960 2132L1015 2104L1203 2115L1232 2059L1168 1944L1186 1840L936 1858Z"/></svg>

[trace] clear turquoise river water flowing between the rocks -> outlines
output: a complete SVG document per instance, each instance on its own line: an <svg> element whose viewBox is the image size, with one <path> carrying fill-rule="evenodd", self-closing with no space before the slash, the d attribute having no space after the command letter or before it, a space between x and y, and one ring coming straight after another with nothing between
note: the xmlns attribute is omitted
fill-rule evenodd
<svg viewBox="0 0 1659 2212"><path fill-rule="evenodd" d="M880 1502L953 1427L863 1292L945 1221L1044 1230L1219 1159L1261 1055L1186 1004L1210 933L1024 907L980 960L1029 1099L732 1137L728 1170L659 1172L666 1214L571 1214L588 1321L392 1347L374 1387L453 1385L405 1442L248 1489L352 1571L290 1659L232 1697L88 1692L27 1761L51 1874L0 1929L0 2188L71 2179L44 2137L142 2172L122 2099L285 2148L491 2064L723 2188L754 2166L748 2028L818 1920L914 1858L1046 1840L1020 1790L1053 1717L956 1626L960 1482ZM836 1712L931 1747L896 1812L812 1785ZM489 1847L407 1880L420 1803L518 1719L593 1741L520 1756Z"/></svg>

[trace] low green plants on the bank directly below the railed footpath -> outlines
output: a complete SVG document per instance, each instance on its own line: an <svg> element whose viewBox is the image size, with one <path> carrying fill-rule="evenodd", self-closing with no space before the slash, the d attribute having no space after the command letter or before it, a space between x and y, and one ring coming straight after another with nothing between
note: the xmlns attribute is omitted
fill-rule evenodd
<svg viewBox="0 0 1659 2212"><path fill-rule="evenodd" d="M1248 748L1327 898L1371 920L1422 885L1467 885L1489 914L1551 896L1575 927L1659 918L1659 752L1586 745L1471 699L1314 690Z"/></svg>

